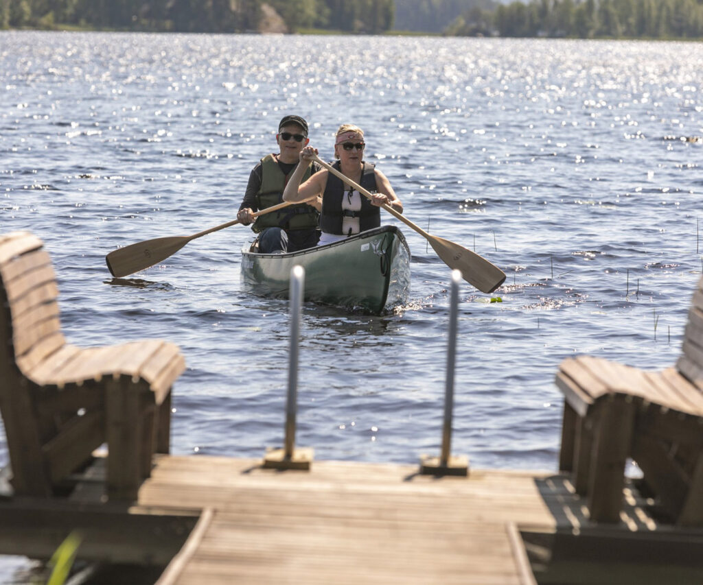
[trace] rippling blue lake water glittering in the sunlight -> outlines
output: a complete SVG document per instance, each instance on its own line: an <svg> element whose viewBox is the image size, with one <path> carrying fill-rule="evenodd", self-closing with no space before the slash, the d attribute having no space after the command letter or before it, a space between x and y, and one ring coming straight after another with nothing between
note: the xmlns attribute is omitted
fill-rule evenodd
<svg viewBox="0 0 703 585"><path fill-rule="evenodd" d="M359 124L406 216L508 274L460 290L453 452L555 470L562 359L679 353L703 266L702 88L700 43L0 32L1 231L46 242L71 343L181 346L172 452L261 456L283 440L289 322L240 287L251 230L122 281L105 254L233 219L284 114L325 159ZM304 305L297 443L317 459L439 453L450 271L397 225L406 306Z"/></svg>

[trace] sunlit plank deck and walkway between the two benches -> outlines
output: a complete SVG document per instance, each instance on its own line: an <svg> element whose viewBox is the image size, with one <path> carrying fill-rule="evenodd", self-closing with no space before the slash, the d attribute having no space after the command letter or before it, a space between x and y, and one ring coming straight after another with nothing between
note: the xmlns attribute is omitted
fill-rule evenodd
<svg viewBox="0 0 703 585"><path fill-rule="evenodd" d="M160 585L528 585L509 526L555 526L531 472L437 479L416 466L315 461L306 473L259 465L157 459L141 506L207 502L213 510L197 546Z"/></svg>

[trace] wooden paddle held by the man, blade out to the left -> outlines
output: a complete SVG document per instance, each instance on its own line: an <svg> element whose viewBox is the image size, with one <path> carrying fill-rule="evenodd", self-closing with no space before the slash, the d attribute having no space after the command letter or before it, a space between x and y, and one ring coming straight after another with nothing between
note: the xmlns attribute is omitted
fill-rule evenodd
<svg viewBox="0 0 703 585"><path fill-rule="evenodd" d="M271 213L271 211L283 209L283 207L287 207L289 205L292 205L292 203L284 201L278 205L273 205L271 207L266 207L266 209L262 209L261 211L256 211L255 213L252 213L252 215L254 217L259 217L264 215L264 213ZM229 228L231 225L237 225L238 223L241 222L239 220L228 221L227 223L217 225L217 227L210 228L204 232L198 232L192 236L157 237L155 239L148 239L146 242L130 244L129 246L118 248L117 250L110 252L110 254L105 256L105 262L108 263L108 268L110 269L112 276L122 277L134 274L134 272L139 272L139 270L149 268L150 266L160 263L169 256L176 254L177 251L196 237L212 234L212 232L224 230L224 228Z"/></svg>

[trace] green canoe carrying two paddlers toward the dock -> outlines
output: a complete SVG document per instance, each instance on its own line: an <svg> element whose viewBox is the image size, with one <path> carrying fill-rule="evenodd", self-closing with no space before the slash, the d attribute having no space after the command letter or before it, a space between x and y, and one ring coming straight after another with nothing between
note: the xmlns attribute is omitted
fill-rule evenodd
<svg viewBox="0 0 703 585"><path fill-rule="evenodd" d="M379 315L410 292L410 249L393 225L290 254L242 250L245 289L288 298L290 270L305 269L305 300Z"/></svg>

